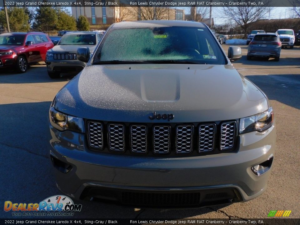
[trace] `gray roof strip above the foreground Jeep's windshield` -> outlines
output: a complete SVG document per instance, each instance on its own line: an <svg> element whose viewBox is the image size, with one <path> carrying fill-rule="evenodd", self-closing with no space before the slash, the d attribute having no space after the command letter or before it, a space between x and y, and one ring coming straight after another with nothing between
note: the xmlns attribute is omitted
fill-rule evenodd
<svg viewBox="0 0 300 225"><path fill-rule="evenodd" d="M126 21L114 23L112 27L152 27L152 26L179 26L179 27L206 27L203 23L180 20L143 20L143 21Z"/></svg>

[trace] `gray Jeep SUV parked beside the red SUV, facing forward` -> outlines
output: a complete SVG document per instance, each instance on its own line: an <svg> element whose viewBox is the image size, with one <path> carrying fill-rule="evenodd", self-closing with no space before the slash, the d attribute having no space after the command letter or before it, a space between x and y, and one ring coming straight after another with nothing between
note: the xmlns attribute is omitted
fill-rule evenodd
<svg viewBox="0 0 300 225"><path fill-rule="evenodd" d="M99 32L67 32L52 49L47 51L46 65L50 78L59 78L61 73L80 72L86 63L77 60L78 47L88 47L93 54L102 34Z"/></svg>

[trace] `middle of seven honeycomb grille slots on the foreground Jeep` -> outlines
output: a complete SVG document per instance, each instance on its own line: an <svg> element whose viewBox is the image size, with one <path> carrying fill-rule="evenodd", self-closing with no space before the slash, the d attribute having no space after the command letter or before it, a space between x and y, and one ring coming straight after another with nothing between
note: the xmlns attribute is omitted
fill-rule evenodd
<svg viewBox="0 0 300 225"><path fill-rule="evenodd" d="M170 133L171 128L169 126L153 127L154 153L162 154L170 152Z"/></svg>

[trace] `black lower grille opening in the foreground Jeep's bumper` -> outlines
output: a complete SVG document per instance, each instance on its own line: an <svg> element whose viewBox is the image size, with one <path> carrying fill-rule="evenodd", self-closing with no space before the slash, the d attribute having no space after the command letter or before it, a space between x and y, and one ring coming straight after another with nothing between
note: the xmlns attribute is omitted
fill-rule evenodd
<svg viewBox="0 0 300 225"><path fill-rule="evenodd" d="M235 188L201 191L129 191L118 188L86 187L80 199L131 207L183 208L204 207L242 201Z"/></svg>

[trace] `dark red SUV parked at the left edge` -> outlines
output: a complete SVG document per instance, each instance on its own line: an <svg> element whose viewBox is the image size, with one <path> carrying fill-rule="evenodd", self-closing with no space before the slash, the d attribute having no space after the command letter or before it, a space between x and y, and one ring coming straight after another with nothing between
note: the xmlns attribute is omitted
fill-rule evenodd
<svg viewBox="0 0 300 225"><path fill-rule="evenodd" d="M14 67L25 73L28 64L45 61L47 50L53 46L42 32L0 34L0 68Z"/></svg>

